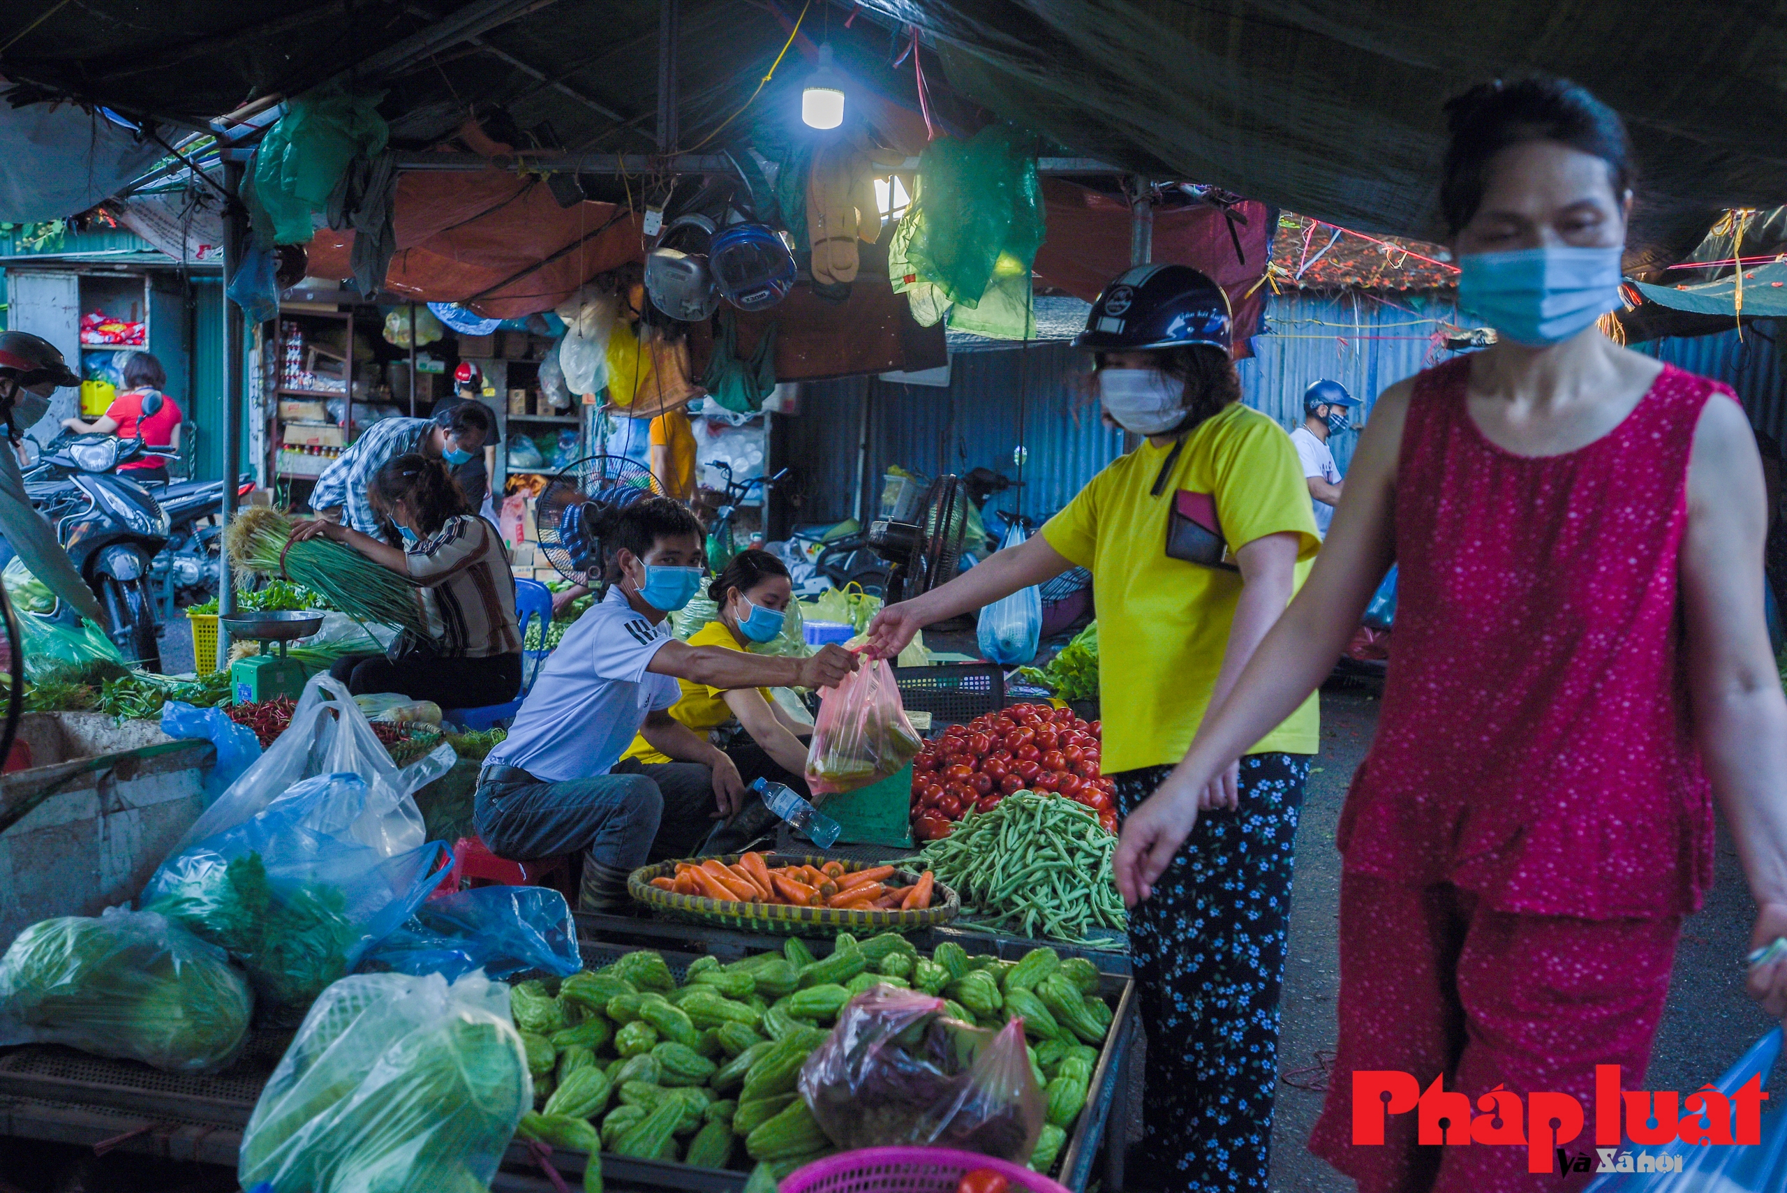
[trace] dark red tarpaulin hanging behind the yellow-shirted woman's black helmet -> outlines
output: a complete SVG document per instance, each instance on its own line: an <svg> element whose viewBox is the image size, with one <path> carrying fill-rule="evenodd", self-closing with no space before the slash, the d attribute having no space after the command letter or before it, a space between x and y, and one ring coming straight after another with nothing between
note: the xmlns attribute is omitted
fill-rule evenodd
<svg viewBox="0 0 1787 1193"><path fill-rule="evenodd" d="M1049 239L1036 252L1036 277L1076 298L1094 302L1104 284L1129 268L1129 205L1078 182L1044 179ZM1154 211L1156 263L1188 264L1221 286L1235 309L1235 355L1251 355L1247 338L1260 327L1272 220L1265 204L1235 207L1246 223L1235 225L1246 261L1235 255L1228 216L1217 207L1165 207Z"/></svg>

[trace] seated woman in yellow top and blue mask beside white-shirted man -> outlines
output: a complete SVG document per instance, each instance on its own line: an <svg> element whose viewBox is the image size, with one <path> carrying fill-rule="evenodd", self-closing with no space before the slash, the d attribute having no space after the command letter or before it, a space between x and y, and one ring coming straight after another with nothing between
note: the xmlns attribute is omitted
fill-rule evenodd
<svg viewBox="0 0 1787 1193"><path fill-rule="evenodd" d="M781 634L788 602L793 600L793 582L781 559L765 550L745 550L715 577L708 596L720 605L720 616L695 630L688 645L745 650L751 643L767 643ZM677 682L683 684L683 698L670 707L672 718L697 734L711 734L734 722L743 727L745 734L724 748L747 786L756 779L768 779L808 795L802 779L806 743L801 738L813 732L811 725L788 716L767 688L709 688L688 679ZM670 761L645 738L634 738L622 757L634 757L640 764Z"/></svg>

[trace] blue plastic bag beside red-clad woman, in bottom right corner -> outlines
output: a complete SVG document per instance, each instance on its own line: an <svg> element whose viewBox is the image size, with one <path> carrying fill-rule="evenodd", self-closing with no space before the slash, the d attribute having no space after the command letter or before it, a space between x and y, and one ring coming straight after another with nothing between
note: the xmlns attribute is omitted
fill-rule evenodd
<svg viewBox="0 0 1787 1193"><path fill-rule="evenodd" d="M1767 1086L1769 1070L1782 1050L1782 1029L1771 1030L1755 1047L1737 1059L1737 1064L1724 1072L1714 1088L1730 1098L1751 1077L1760 1077ZM1683 1098L1691 1095L1683 1093ZM1764 1102L1767 1107L1767 1102ZM1699 1118L1691 1111L1678 1111L1682 1118ZM1737 1107L1732 1107L1733 1136ZM1762 1116L1762 1139L1751 1145L1698 1145L1658 1143L1657 1147L1621 1148L1615 1163L1624 1166L1632 1157L1633 1172L1610 1172L1594 1179L1585 1193L1780 1193L1787 1188L1787 1111ZM1669 1172L1637 1172L1642 1161L1646 1168ZM1680 1164L1680 1172L1676 1170Z"/></svg>

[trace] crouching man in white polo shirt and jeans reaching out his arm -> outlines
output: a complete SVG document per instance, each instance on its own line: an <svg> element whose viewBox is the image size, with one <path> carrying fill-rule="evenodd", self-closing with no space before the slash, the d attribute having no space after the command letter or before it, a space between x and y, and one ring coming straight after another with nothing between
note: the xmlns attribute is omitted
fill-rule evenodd
<svg viewBox="0 0 1787 1193"><path fill-rule="evenodd" d="M701 521L677 502L604 507L588 532L608 564L608 596L570 627L484 761L474 825L499 857L586 850L579 905L615 911L627 902L627 875L647 861L693 855L704 839L708 852L729 852L726 834L743 845L774 822L733 761L668 714L683 695L677 679L835 688L858 657L838 647L783 659L675 641L668 614L701 588L704 559ZM634 734L677 761L618 761Z"/></svg>

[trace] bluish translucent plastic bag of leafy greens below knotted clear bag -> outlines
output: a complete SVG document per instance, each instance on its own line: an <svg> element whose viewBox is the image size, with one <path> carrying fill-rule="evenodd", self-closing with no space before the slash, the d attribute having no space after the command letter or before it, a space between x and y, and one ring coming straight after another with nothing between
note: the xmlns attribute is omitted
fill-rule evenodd
<svg viewBox="0 0 1787 1193"><path fill-rule="evenodd" d="M304 779L164 861L143 905L223 948L263 1005L302 1014L440 884L440 841L386 852L356 836L375 802L352 772Z"/></svg>

